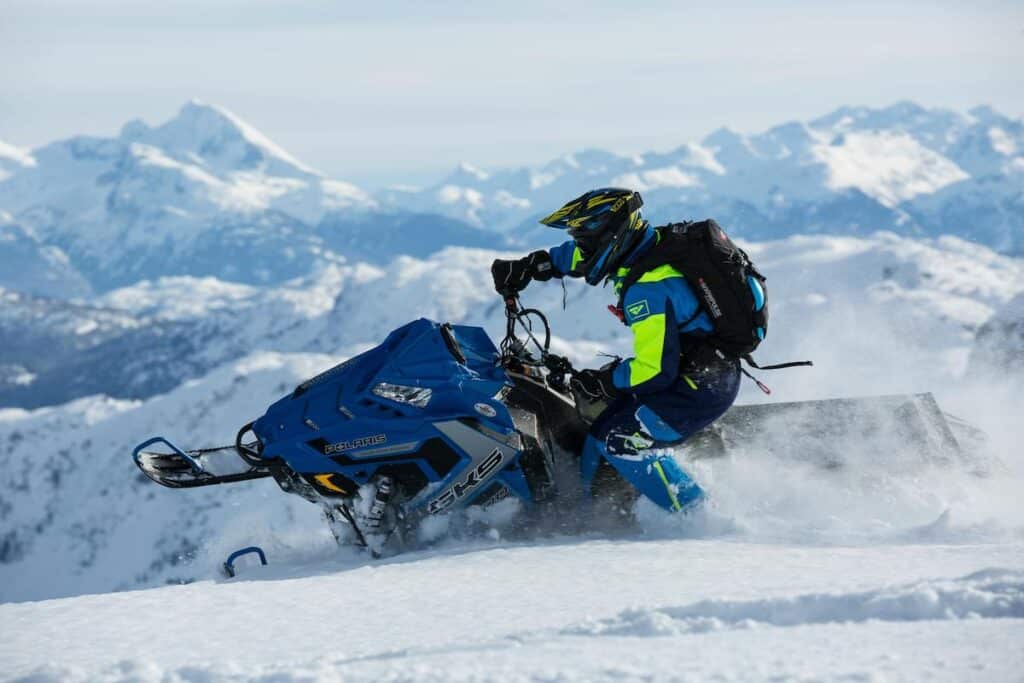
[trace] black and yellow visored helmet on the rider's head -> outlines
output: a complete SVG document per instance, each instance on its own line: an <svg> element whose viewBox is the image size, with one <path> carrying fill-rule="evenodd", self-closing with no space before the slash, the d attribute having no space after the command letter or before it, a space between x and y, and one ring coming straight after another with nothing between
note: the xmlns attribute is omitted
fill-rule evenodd
<svg viewBox="0 0 1024 683"><path fill-rule="evenodd" d="M579 269L597 285L618 269L644 238L647 221L640 215L640 193L602 187L578 197L547 218L545 225L568 230L583 260Z"/></svg>

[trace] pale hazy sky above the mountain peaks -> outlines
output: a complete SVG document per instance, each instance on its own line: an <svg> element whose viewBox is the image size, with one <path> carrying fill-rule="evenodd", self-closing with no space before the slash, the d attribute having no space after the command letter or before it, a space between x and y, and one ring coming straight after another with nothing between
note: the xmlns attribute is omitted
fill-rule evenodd
<svg viewBox="0 0 1024 683"><path fill-rule="evenodd" d="M199 97L370 187L841 104L1024 113L1024 1L0 0L0 139Z"/></svg>

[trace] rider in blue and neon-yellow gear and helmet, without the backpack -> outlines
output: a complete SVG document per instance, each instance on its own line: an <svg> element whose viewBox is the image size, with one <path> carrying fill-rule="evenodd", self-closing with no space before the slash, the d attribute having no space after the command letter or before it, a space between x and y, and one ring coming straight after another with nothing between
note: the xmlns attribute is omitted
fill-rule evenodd
<svg viewBox="0 0 1024 683"><path fill-rule="evenodd" d="M547 218L545 225L572 239L490 267L495 288L514 296L531 280L584 278L588 285L610 281L618 295L631 264L660 236L641 216L643 200L630 189L586 193ZM739 390L739 364L707 344L711 318L690 283L672 265L643 273L626 291L614 312L633 331L633 357L574 374L578 401L596 408L581 457L586 488L606 460L645 496L669 510L697 505L703 492L669 456L652 449L677 445L732 405Z"/></svg>

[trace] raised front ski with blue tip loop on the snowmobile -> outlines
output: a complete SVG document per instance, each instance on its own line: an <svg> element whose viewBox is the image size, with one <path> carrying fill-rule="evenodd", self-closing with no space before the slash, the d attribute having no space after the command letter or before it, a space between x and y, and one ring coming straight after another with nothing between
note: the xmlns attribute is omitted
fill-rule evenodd
<svg viewBox="0 0 1024 683"><path fill-rule="evenodd" d="M163 443L171 453L147 451ZM145 476L171 488L211 486L271 476L270 467L250 465L239 457L233 445L182 451L163 436L155 436L135 446L132 460Z"/></svg>

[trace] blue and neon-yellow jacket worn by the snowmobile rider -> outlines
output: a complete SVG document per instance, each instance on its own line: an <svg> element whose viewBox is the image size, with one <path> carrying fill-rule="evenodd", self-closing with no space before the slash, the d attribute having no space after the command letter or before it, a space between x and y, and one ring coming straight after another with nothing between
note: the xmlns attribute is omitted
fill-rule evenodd
<svg viewBox="0 0 1024 683"><path fill-rule="evenodd" d="M657 243L654 228L647 230L644 241L610 276L616 297L630 264ZM571 240L550 249L549 254L558 276L582 276L577 266L583 257ZM627 290L623 301L624 322L633 331L633 357L615 368L612 375L615 387L632 393L651 393L675 384L679 379L680 336L706 336L714 331L711 318L699 307L683 273L671 265L641 275Z"/></svg>

